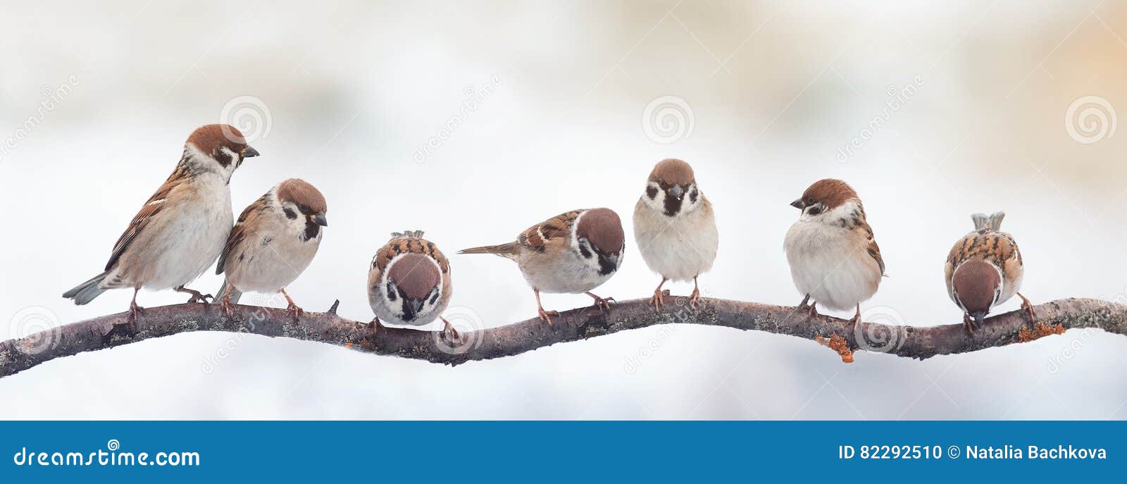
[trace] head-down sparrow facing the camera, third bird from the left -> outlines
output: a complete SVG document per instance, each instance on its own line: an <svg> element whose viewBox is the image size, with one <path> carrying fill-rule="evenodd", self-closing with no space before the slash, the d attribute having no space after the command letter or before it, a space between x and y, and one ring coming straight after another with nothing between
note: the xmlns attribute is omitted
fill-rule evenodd
<svg viewBox="0 0 1127 484"><path fill-rule="evenodd" d="M385 322L423 326L442 319L447 337L458 332L442 311L450 306L454 285L450 280L450 261L421 230L391 234L391 240L375 253L367 271L367 302L375 313L372 327Z"/></svg>

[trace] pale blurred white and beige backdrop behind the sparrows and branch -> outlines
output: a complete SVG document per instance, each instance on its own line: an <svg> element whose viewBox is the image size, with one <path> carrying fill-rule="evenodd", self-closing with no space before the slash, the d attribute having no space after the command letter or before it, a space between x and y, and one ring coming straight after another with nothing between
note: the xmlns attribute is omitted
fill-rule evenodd
<svg viewBox="0 0 1127 484"><path fill-rule="evenodd" d="M840 177L890 275L868 319L958 323L942 265L978 211L1006 211L1035 302L1127 298L1127 2L0 3L2 338L126 309L130 291L60 294L220 121L263 153L233 177L236 212L286 177L326 194L331 226L290 293L358 320L391 231L452 255L600 205L628 253L596 292L648 296L629 219L667 157L718 214L707 296L797 303L788 203ZM452 259L463 323L535 315L513 264ZM1125 370L1127 338L1100 331L846 366L809 341L676 325L456 368L193 333L5 378L0 417L1125 419Z"/></svg>

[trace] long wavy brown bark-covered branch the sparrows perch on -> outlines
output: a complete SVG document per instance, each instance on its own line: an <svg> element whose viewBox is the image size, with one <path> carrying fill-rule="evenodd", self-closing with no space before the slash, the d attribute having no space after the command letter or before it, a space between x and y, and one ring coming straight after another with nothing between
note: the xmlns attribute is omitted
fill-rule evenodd
<svg viewBox="0 0 1127 484"><path fill-rule="evenodd" d="M726 326L756 329L817 340L852 361L857 350L916 359L937 354L965 353L986 347L1036 340L1072 328L1100 328L1127 335L1127 306L1097 299L1061 299L1036 306L1037 323L1017 310L986 319L974 336L962 324L943 326L900 326L862 323L849 327L849 320L829 316L810 317L793 307L703 299L691 309L686 298L668 300L660 314L647 299L633 299L612 306L609 313L595 307L561 313L549 326L532 318L488 329L455 327L456 340L442 332L381 327L373 333L367 323L358 323L329 313L305 313L295 322L284 309L237 306L228 318L219 305L185 303L148 308L136 324L127 325L127 313L72 323L27 337L0 343L0 377L6 377L45 361L83 351L104 350L153 337L192 331L282 336L336 344L358 351L434 363L460 364L473 360L511 357L556 343L586 340L624 329L668 323Z"/></svg>

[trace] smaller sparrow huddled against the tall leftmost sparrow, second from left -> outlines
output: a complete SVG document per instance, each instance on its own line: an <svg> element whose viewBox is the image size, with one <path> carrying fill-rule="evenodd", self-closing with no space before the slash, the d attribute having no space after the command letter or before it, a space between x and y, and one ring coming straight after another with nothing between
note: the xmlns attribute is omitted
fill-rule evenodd
<svg viewBox="0 0 1127 484"><path fill-rule="evenodd" d="M325 196L303 179L274 186L239 215L219 256L216 274L227 273L220 294L223 310L233 313L243 292L282 292L294 318L303 310L285 287L309 267L329 226Z"/></svg>

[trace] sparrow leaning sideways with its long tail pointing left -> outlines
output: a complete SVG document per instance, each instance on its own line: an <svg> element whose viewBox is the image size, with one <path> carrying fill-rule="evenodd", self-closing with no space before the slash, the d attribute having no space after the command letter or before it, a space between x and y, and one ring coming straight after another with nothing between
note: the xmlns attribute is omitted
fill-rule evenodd
<svg viewBox="0 0 1127 484"><path fill-rule="evenodd" d="M459 254L496 254L516 262L536 297L540 319L551 324L559 311L545 311L540 292L585 293L595 306L610 310L614 298L592 289L606 282L622 265L625 237L622 221L611 209L573 210L530 227L516 241L473 247Z"/></svg>

